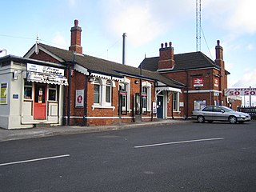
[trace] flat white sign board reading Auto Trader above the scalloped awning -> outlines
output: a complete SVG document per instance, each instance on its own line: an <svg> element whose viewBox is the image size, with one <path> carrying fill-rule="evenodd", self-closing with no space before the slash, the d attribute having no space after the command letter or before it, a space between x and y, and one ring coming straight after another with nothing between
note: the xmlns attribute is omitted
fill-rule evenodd
<svg viewBox="0 0 256 192"><path fill-rule="evenodd" d="M41 73L41 74L54 74L54 75L64 76L63 69L55 68L52 66L40 66L36 64L27 63L26 70Z"/></svg>

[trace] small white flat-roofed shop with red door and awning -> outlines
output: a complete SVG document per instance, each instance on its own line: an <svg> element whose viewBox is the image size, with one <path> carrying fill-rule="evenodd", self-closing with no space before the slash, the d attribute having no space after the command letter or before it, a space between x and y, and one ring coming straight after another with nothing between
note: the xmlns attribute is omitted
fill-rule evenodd
<svg viewBox="0 0 256 192"><path fill-rule="evenodd" d="M65 66L7 55L0 58L0 127L62 125Z"/></svg>

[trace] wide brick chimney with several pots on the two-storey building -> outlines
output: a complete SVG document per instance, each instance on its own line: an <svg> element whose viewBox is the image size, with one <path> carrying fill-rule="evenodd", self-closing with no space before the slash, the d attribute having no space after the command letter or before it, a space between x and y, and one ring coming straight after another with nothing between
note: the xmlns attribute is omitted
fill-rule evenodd
<svg viewBox="0 0 256 192"><path fill-rule="evenodd" d="M172 47L171 44L172 43L169 42L169 46L167 46L166 42L165 47L163 47L163 43L161 44L161 48L159 49L158 71L172 70L174 68L174 47Z"/></svg>

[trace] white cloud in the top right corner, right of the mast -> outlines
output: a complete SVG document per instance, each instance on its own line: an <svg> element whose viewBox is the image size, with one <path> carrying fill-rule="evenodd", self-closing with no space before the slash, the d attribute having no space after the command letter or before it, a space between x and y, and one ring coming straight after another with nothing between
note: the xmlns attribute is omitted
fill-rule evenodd
<svg viewBox="0 0 256 192"><path fill-rule="evenodd" d="M235 36L256 33L256 2L254 0L202 1L202 21L210 20L217 27Z"/></svg>

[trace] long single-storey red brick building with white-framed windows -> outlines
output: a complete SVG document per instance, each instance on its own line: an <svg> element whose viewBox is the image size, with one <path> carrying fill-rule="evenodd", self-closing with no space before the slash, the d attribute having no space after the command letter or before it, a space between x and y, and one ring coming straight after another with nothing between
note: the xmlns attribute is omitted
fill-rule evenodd
<svg viewBox="0 0 256 192"><path fill-rule="evenodd" d="M74 21L69 50L36 43L25 55L66 68L63 125L99 126L173 118L174 95L185 86L158 71L83 54L82 28ZM58 89L58 87L57 87ZM181 114L182 115L182 114Z"/></svg>

